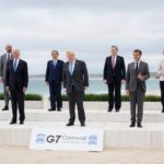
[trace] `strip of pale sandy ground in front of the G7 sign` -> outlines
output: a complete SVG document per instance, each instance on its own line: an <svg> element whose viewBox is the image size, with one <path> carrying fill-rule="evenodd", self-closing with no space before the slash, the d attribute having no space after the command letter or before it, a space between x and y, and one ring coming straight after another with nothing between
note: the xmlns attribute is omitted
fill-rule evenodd
<svg viewBox="0 0 164 164"><path fill-rule="evenodd" d="M107 149L104 152L33 151L1 147L0 164L163 164L164 150Z"/></svg>

